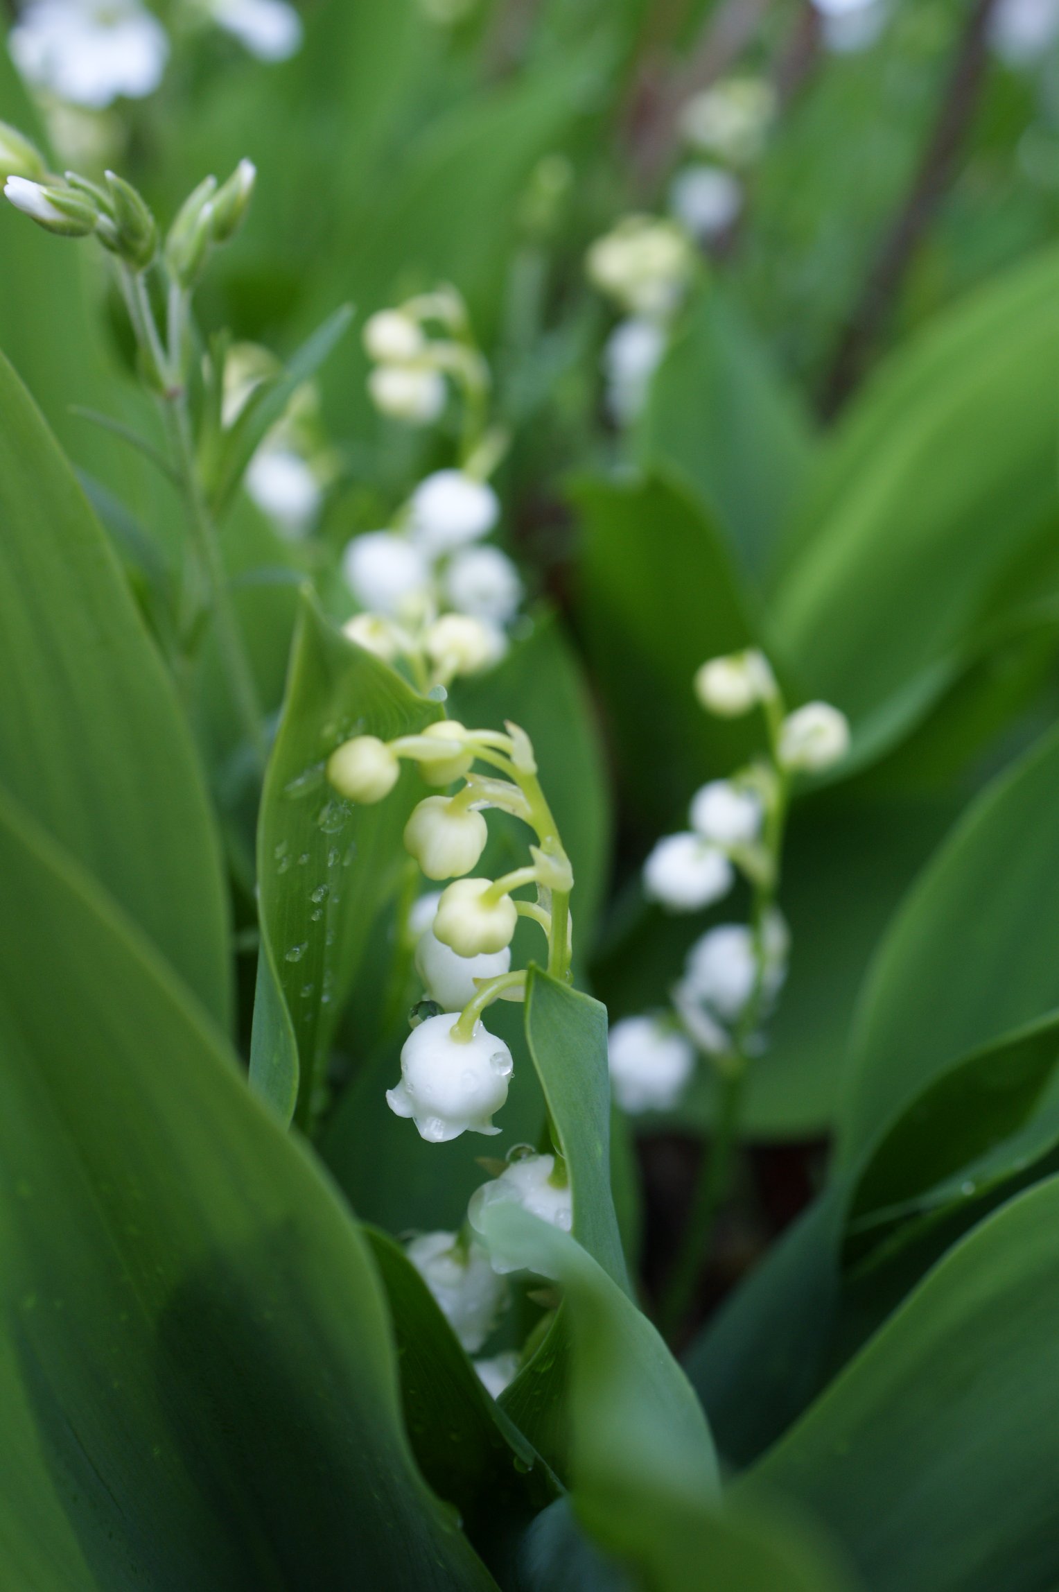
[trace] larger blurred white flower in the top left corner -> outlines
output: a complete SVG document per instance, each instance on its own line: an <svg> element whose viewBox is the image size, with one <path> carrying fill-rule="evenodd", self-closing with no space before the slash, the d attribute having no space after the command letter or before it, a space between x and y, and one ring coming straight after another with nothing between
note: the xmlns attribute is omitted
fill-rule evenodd
<svg viewBox="0 0 1059 1592"><path fill-rule="evenodd" d="M162 81L165 29L138 0L30 0L8 35L22 76L70 105L105 110Z"/></svg>

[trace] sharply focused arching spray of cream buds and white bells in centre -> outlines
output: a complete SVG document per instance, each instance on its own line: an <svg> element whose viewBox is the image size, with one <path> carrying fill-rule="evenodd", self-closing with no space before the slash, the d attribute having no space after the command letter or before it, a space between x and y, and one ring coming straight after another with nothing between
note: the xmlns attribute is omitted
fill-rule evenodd
<svg viewBox="0 0 1059 1592"><path fill-rule="evenodd" d="M450 879L436 896L417 903L409 928L415 966L426 998L440 1011L426 1017L401 1051L401 1081L386 1092L390 1108L410 1118L420 1137L445 1143L461 1134L496 1134L493 1113L507 1100L512 1055L482 1022L493 1000L522 1000L525 973L510 973L510 942L520 911L533 917L553 947L552 904L560 898L568 952L566 899L572 872L541 791L533 747L515 726L507 734L467 731L453 720L429 724L420 736L382 742L356 736L332 753L328 777L348 801L377 802L398 782L399 759L418 764L436 790L463 780L455 796L426 796L405 829L405 850L431 880ZM474 763L509 774L499 780L477 774ZM467 877L488 841L483 812L499 807L536 829L531 864L501 879ZM515 901L512 892L536 885L537 899ZM568 962L564 954L561 962Z"/></svg>

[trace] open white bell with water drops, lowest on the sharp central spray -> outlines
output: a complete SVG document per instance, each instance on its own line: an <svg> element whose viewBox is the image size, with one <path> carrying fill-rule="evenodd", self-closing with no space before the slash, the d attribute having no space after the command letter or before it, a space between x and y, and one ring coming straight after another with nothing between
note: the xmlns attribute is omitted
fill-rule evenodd
<svg viewBox="0 0 1059 1592"><path fill-rule="evenodd" d="M493 1111L507 1100L510 1051L483 1024L467 1041L453 1040L458 1013L428 1017L401 1051L401 1083L386 1091L396 1116L410 1116L420 1138L444 1145L461 1134L499 1134Z"/></svg>

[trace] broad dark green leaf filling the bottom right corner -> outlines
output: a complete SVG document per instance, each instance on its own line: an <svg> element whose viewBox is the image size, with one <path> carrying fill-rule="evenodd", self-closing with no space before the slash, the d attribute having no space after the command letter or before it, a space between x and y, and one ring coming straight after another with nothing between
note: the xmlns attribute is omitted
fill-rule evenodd
<svg viewBox="0 0 1059 1592"><path fill-rule="evenodd" d="M873 1592L1059 1578L1059 1180L957 1245L738 1492L817 1514Z"/></svg>

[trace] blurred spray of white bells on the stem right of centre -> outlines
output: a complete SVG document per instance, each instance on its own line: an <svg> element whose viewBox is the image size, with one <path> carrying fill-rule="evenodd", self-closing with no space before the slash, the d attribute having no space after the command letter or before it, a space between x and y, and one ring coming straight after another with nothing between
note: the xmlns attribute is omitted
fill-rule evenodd
<svg viewBox="0 0 1059 1592"><path fill-rule="evenodd" d="M754 927L720 923L695 941L671 990L673 1011L626 1017L611 1030L611 1083L631 1113L673 1110L695 1070L695 1052L741 1065L762 1049L787 971L787 925L773 904L792 774L819 772L849 748L838 708L809 702L784 713L779 688L758 651L712 657L695 675L703 707L722 718L765 710L770 756L692 799L690 828L658 841L644 863L646 895L673 912L720 901L743 872L755 893Z"/></svg>

